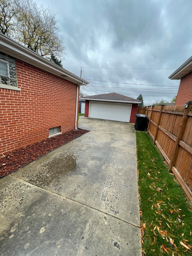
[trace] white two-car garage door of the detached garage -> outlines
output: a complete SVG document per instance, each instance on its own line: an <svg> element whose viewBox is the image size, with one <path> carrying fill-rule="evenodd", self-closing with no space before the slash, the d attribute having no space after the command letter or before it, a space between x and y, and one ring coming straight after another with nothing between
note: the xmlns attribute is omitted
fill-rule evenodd
<svg viewBox="0 0 192 256"><path fill-rule="evenodd" d="M89 117L129 122L131 104L116 104L105 102L90 102Z"/></svg>

